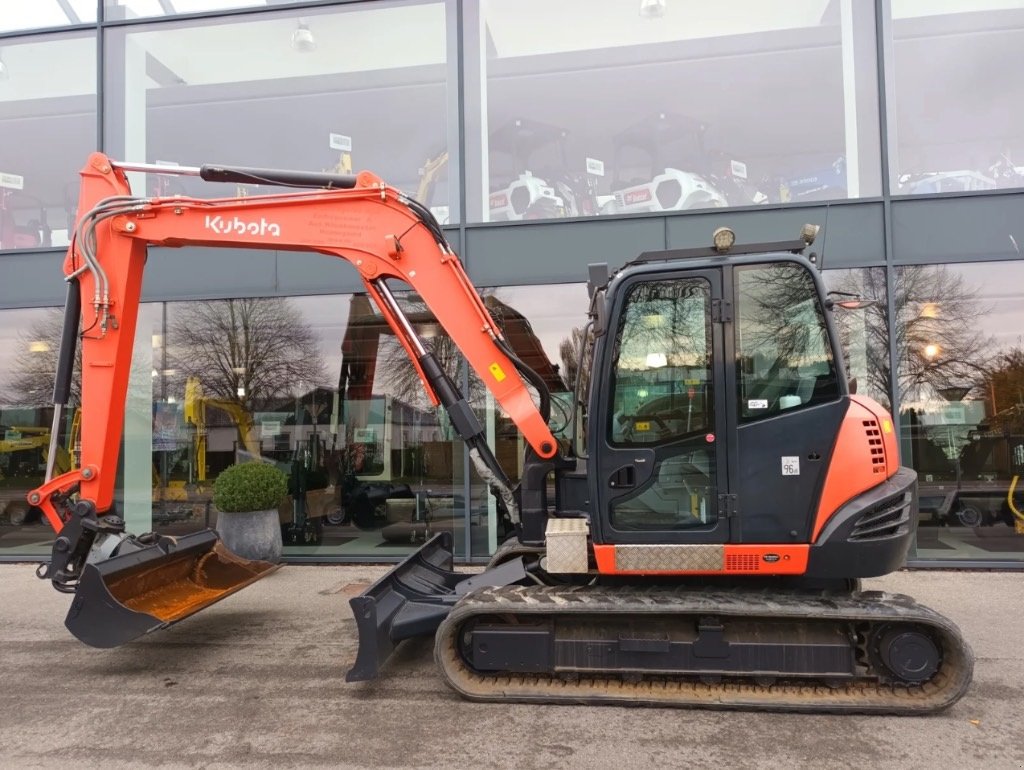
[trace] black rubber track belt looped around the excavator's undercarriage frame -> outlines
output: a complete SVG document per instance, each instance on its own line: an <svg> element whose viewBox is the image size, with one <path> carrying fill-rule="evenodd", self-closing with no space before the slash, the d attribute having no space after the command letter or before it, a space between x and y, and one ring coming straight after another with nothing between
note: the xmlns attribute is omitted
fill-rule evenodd
<svg viewBox="0 0 1024 770"><path fill-rule="evenodd" d="M912 623L928 627L942 649L939 671L922 685L886 684L872 678L829 687L794 679L770 685L751 678L701 682L699 675L620 678L579 675L480 674L466 665L459 632L478 615L715 614L726 617L833 619L837 623ZM850 595L584 586L506 586L464 597L435 635L434 658L449 686L471 700L541 703L613 703L760 711L921 715L940 712L967 691L974 654L956 626L908 596L882 592Z"/></svg>

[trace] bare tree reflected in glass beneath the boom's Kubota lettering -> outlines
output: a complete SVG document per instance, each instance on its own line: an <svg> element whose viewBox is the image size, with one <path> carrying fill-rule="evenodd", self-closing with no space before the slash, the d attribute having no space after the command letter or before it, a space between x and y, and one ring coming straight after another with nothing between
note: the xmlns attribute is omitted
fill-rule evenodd
<svg viewBox="0 0 1024 770"><path fill-rule="evenodd" d="M172 304L168 314L169 365L210 397L251 412L325 383L313 332L286 298Z"/></svg>

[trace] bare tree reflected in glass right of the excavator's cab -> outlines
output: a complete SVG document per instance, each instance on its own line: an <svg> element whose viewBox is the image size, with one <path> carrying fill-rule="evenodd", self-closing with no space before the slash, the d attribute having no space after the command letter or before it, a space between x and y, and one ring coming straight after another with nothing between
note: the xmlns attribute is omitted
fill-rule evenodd
<svg viewBox="0 0 1024 770"><path fill-rule="evenodd" d="M990 340L980 331L988 308L979 302L978 290L945 265L910 265L896 268L893 302L896 311L895 345L898 379L889 367L889 317L885 271L850 270L829 284L839 291L876 300L863 310L837 311L841 331L849 333L863 313L869 392L892 392L901 402L918 400L924 388L942 391L971 384L985 371Z"/></svg>

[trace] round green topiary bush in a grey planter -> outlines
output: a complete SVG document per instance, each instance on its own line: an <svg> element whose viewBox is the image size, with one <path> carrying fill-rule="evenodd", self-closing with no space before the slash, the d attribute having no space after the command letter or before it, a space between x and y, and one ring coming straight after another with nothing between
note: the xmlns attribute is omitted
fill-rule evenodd
<svg viewBox="0 0 1024 770"><path fill-rule="evenodd" d="M229 551L244 559L281 561L278 505L288 494L288 476L267 463L232 465L213 482L217 531Z"/></svg>

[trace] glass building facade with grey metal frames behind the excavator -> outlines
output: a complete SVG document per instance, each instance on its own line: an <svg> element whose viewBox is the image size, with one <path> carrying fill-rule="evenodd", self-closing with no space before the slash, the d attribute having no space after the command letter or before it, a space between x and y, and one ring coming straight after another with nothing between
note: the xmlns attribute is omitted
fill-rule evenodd
<svg viewBox="0 0 1024 770"><path fill-rule="evenodd" d="M88 153L371 169L444 225L569 429L587 266L804 222L858 392L920 474L916 565L1024 566L1024 1L0 2L0 559L49 552L42 479L60 263ZM134 174L151 195L260 185ZM757 287L752 287L755 291ZM415 294L506 471L523 441ZM586 373L584 373L586 374ZM76 462L76 404L58 466ZM216 522L258 456L314 522L296 560L507 534L355 270L311 254L152 249L118 506L133 531ZM301 501L301 502L300 502Z"/></svg>

